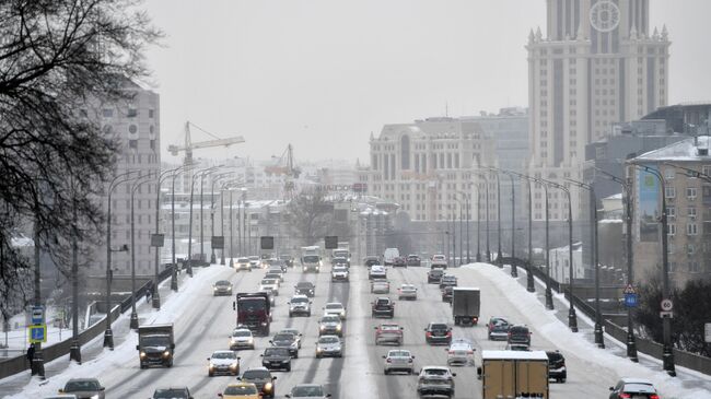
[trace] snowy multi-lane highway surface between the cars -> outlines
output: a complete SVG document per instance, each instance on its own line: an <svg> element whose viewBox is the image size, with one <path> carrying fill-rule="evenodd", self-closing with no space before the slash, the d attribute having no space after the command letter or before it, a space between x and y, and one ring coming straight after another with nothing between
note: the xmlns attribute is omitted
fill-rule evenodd
<svg viewBox="0 0 711 399"><path fill-rule="evenodd" d="M485 322L490 316L505 316L516 324L526 324L533 331L533 349L557 349L560 337L547 336L550 320L532 319L532 304L512 303L511 295L491 282L491 266L476 265L462 269L450 269L447 273L458 278L459 286L478 286L481 290L481 320L476 327L455 327L454 338L467 338L475 343L477 365L482 349L503 349L504 342L487 339ZM273 308L272 335L281 328L296 328L303 333L299 359L292 361L291 372L275 372L277 376L277 397L296 384L323 384L334 398L412 398L417 397L417 377L409 375L384 375L382 356L393 347L375 345L373 327L388 319L372 319L370 303L378 295L370 293L368 269L363 266L351 267L349 283L330 282L330 267L320 273L304 274L299 268L289 269L284 274L277 304ZM388 268L392 286L389 296L396 301L394 322L405 328L404 349L415 354L415 369L426 365L445 365L445 347L431 347L424 341L423 328L430 321L452 321L450 305L442 302L436 284L427 283L428 268ZM167 301L158 321L171 320L175 325L176 351L172 368L140 369L138 353L129 345L135 345L135 335L129 336L123 350L117 348L114 355L100 360L98 363L85 363L72 366L72 376L97 377L106 387L107 398L150 398L159 387L187 386L195 398L215 398L218 392L234 377L208 376L207 357L215 350L228 349L229 336L235 327L235 312L232 307L233 296L213 296L212 283L220 279L230 280L234 292L253 292L257 290L264 270L235 272L224 266L212 266L198 272L190 284L186 285L177 300ZM501 271L496 271L501 272ZM209 278L206 278L208 277ZM299 281L312 281L316 285L311 317L288 315L287 302L293 293L293 285ZM418 289L417 301L397 301L396 289L403 283L415 284ZM318 318L322 307L327 302L341 302L346 305L348 317L345 321L346 354L342 359L316 359L315 341L318 336ZM535 304L539 306L539 304ZM528 310L526 310L528 308ZM142 315L150 319L150 312ZM256 350L240 351L242 371L261 365L259 354L269 345L269 338L256 338ZM127 348L129 350L127 350ZM562 348L567 360L568 380L564 384L551 383L552 398L586 397L605 398L607 387L620 377L615 369L594 361L590 353L572 353ZM92 366L93 365L93 366ZM475 366L453 367L457 374L456 398L480 398L481 383L477 379ZM56 384L62 376L53 377ZM63 384L63 382L61 383ZM50 384L51 385L51 384ZM48 389L38 390L43 396ZM42 396L35 396L42 397Z"/></svg>

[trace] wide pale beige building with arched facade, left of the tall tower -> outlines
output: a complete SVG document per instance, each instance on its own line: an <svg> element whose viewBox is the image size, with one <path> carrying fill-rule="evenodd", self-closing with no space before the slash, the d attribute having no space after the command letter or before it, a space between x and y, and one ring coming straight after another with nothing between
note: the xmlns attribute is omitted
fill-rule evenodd
<svg viewBox="0 0 711 399"><path fill-rule="evenodd" d="M494 140L479 122L448 117L385 125L380 137L371 137L370 153L370 167L358 171L359 183L368 195L400 204L413 221L447 220L465 195L476 220L476 172L496 165ZM489 211L496 220L496 179L490 180Z"/></svg>

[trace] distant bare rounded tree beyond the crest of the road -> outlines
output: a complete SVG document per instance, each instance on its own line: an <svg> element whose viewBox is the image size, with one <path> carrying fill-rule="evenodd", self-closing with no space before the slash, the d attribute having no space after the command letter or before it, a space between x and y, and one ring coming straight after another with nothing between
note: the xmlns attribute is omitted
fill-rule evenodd
<svg viewBox="0 0 711 399"><path fill-rule="evenodd" d="M289 203L287 221L304 245L313 245L326 235L333 214L334 204L322 191L304 191Z"/></svg>

